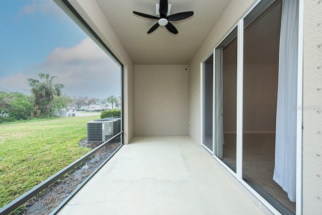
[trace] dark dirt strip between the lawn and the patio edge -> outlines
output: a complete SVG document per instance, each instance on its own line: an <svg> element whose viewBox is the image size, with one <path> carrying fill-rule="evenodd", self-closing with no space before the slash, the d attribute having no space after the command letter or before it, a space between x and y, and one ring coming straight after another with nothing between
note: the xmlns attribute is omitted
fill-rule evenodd
<svg viewBox="0 0 322 215"><path fill-rule="evenodd" d="M84 139L78 143L81 147L95 149L102 143L88 143ZM109 142L106 146L71 170L67 175L51 184L41 194L33 197L25 203L25 208L19 214L49 214L56 208L77 186L82 183L104 160L108 158L121 145L120 138Z"/></svg>

